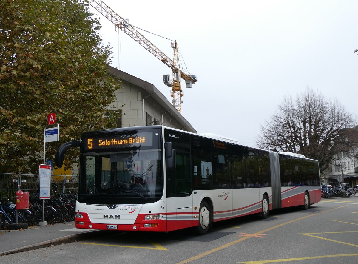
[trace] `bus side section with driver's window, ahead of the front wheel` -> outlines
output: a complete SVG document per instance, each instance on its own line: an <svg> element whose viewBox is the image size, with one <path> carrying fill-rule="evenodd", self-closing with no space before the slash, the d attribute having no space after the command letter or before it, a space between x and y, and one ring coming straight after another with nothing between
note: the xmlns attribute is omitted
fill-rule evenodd
<svg viewBox="0 0 358 264"><path fill-rule="evenodd" d="M192 178L190 149L174 146L175 170L166 170L167 231L193 225Z"/></svg>

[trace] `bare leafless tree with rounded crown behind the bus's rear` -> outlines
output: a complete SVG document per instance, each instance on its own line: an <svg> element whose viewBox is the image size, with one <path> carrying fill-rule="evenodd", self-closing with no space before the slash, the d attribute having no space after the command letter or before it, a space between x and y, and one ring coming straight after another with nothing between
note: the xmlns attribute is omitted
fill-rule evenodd
<svg viewBox="0 0 358 264"><path fill-rule="evenodd" d="M337 99L326 99L312 89L292 99L286 95L270 121L261 124L256 143L273 151L303 154L319 161L324 171L333 155L342 151L342 129L355 120Z"/></svg>

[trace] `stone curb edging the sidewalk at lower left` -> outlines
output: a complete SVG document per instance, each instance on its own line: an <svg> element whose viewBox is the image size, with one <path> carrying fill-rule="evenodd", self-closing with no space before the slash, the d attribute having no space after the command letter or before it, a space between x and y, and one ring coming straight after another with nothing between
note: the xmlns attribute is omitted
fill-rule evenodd
<svg viewBox="0 0 358 264"><path fill-rule="evenodd" d="M106 232L102 232L102 231L106 231L106 230L91 230L86 233L62 236L61 238L55 238L55 239L39 242L33 245L28 245L28 246L23 246L21 248L3 251L0 252L0 256L10 255L10 254L33 250L33 249L46 248L51 245L59 245L59 244L71 243L78 240L89 239L94 235L96 236L105 235Z"/></svg>

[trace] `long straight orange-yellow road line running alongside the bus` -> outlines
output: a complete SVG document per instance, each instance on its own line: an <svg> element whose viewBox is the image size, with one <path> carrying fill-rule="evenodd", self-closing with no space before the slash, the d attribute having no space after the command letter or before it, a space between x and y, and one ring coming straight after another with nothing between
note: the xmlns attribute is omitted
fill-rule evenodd
<svg viewBox="0 0 358 264"><path fill-rule="evenodd" d="M311 215L306 215L306 216L303 216L303 217L300 217L300 218L297 218L297 219L294 219L294 220L291 220L291 221L287 221L287 222L282 223L282 224L279 224L279 225L272 226L271 228L267 228L267 229L265 229L265 230L256 232L254 235L262 234L262 233L265 233L265 232L267 232L267 231L270 231L270 230L279 228L279 227L281 227L281 226L294 223L294 222L296 222L296 221L298 221L298 220L302 220L302 219L305 219L305 218L307 218L307 217L314 216L314 215L318 215L318 214L323 214L324 212L329 212L329 211L332 211L332 210L335 210L335 209L339 209L339 208L343 208L343 207L346 207L346 206L348 206L348 205L339 206L339 207L336 207L336 208L328 209L328 210L326 210L326 211L317 212L317 213L311 214ZM243 238L234 240L234 241L232 241L232 242L230 242L230 243L227 243L227 244L224 244L224 245L219 246L219 247L217 247L217 248L214 248L214 249L212 249L212 250L206 251L206 252L204 252L204 253L202 253L202 254L199 254L199 255L193 256L193 257L191 257L191 258L189 258L189 259L180 261L180 262L178 262L178 264L184 264L184 263L188 263L188 262L190 262L190 261L198 260L198 259L200 259L200 258L203 258L204 256L210 255L210 254L215 253L215 252L217 252L217 251L219 251L219 250L222 250L222 249L225 249L225 248L227 248L227 247L229 247L229 246L235 245L235 244L237 244L237 243L239 243L239 242L241 242L241 241L243 241L243 240L246 240L246 239L248 239L248 238L250 238L250 236L245 236L245 237L243 237Z"/></svg>

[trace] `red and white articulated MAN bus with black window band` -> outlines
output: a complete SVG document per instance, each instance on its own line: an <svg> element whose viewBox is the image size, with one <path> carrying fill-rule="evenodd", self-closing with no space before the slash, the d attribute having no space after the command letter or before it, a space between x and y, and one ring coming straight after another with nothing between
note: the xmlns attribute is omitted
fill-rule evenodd
<svg viewBox="0 0 358 264"><path fill-rule="evenodd" d="M321 200L318 161L164 126L86 132L80 148L76 228L205 234L213 222Z"/></svg>

